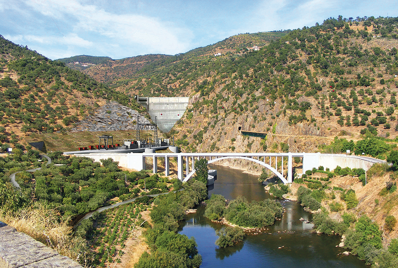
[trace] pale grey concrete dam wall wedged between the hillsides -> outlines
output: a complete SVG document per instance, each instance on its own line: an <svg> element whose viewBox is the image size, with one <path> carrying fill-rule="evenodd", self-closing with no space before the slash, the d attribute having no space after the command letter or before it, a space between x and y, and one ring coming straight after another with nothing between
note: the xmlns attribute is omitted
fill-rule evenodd
<svg viewBox="0 0 398 268"><path fill-rule="evenodd" d="M189 102L189 97L137 97L137 101L146 108L152 121L162 132L169 132L181 119Z"/></svg>

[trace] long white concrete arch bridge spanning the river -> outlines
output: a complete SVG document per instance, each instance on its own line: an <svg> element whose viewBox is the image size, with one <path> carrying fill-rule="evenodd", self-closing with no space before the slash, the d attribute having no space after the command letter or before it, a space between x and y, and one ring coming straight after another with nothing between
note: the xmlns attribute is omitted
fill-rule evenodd
<svg viewBox="0 0 398 268"><path fill-rule="evenodd" d="M170 174L170 158L175 158L177 161L177 173L180 181L189 180L195 174L195 160L206 158L211 164L216 161L224 159L244 159L258 163L261 166L271 170L283 183L291 183L293 181L293 157L302 158L303 172L324 166L334 170L336 166L342 168L363 168L368 170L374 163L385 163L383 160L364 157L364 156L348 156L345 154L321 154L321 153L156 153L152 150L144 153L127 153L127 154L113 154L113 153L96 153L96 154L75 154L76 156L86 156L99 161L103 158L113 158L119 162L119 166L125 168L133 168L135 170L146 169L146 158L152 159L152 169L154 173L158 172L158 158L164 158L165 174ZM287 174L284 170L283 160L287 158ZM278 162L280 164L278 166ZM185 170L184 170L185 164Z"/></svg>

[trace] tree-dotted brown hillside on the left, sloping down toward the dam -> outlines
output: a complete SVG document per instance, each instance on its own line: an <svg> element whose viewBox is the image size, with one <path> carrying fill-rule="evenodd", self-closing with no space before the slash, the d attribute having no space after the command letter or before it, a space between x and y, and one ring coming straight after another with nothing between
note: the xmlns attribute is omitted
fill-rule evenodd
<svg viewBox="0 0 398 268"><path fill-rule="evenodd" d="M110 100L145 113L129 96L0 36L2 148L32 133L66 133Z"/></svg>

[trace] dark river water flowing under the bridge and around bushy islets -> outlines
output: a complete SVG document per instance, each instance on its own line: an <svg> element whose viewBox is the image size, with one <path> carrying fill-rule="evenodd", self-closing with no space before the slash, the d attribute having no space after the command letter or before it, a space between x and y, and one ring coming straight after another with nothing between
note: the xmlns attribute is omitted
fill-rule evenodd
<svg viewBox="0 0 398 268"><path fill-rule="evenodd" d="M209 189L209 196L220 194L226 199L235 199L242 195L249 202L274 199L265 193L263 186L258 183L258 176L222 166L209 166L217 169L217 180L214 189ZM201 268L366 267L365 262L355 256L339 255L345 251L336 247L341 237L313 233L312 224L301 222L300 218L311 221L312 214L304 211L300 204L291 201L281 203L286 209L282 220L268 226L269 230L265 233L246 235L244 241L233 247L220 249L215 245L218 238L216 230L223 225L205 218L204 208L200 206L196 213L188 214L186 220L181 222L179 233L195 237L199 254L203 257Z"/></svg>

